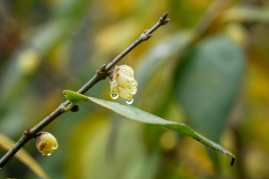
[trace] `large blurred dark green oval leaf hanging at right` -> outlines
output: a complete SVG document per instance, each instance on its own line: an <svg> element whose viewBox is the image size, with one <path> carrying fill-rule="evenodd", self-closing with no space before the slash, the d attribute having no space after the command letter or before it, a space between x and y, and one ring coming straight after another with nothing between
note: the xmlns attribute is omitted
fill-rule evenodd
<svg viewBox="0 0 269 179"><path fill-rule="evenodd" d="M176 95L190 124L219 141L241 84L242 51L224 36L199 43L177 71Z"/></svg>

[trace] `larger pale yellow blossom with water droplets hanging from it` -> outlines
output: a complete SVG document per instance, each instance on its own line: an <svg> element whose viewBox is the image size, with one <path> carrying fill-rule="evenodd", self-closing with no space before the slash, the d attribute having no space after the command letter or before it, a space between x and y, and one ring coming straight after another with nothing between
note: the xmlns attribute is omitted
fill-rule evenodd
<svg viewBox="0 0 269 179"><path fill-rule="evenodd" d="M116 66L110 73L110 96L117 99L119 96L126 99L127 104L132 104L133 95L137 92L137 82L134 80L134 70L127 66Z"/></svg>

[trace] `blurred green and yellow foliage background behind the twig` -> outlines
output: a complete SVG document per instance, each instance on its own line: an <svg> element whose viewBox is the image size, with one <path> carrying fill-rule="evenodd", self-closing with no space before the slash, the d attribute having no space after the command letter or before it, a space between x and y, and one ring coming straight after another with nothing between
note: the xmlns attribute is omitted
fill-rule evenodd
<svg viewBox="0 0 269 179"><path fill-rule="evenodd" d="M189 137L90 102L44 129L59 144L51 156L34 140L24 149L51 179L269 179L268 0L1 0L1 135L17 141L166 11L170 22L119 63L134 68L132 105L220 143L233 167ZM106 79L86 95L109 93ZM0 178L38 177L13 158Z"/></svg>

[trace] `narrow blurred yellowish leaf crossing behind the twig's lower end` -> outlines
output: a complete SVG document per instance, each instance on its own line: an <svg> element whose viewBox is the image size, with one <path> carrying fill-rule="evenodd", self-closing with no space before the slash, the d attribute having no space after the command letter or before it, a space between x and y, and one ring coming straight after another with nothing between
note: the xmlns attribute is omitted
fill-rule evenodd
<svg viewBox="0 0 269 179"><path fill-rule="evenodd" d="M0 148L8 151L15 145L12 139L0 133ZM41 166L23 149L20 149L15 157L27 166L40 179L49 179L48 175L43 171Z"/></svg>

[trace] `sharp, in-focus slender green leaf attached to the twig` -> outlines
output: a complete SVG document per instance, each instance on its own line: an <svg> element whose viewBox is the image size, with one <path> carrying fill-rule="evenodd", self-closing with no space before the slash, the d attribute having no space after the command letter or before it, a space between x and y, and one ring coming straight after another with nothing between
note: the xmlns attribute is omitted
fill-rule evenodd
<svg viewBox="0 0 269 179"><path fill-rule="evenodd" d="M148 112L145 112L145 111L142 111L138 108L135 108L134 106L131 106L131 105L107 101L107 100L98 99L95 97L89 97L89 96L87 97L83 94L79 94L79 93L76 93L76 92L70 91L70 90L64 90L63 92L65 93L65 97L68 100L72 100L73 103L80 102L80 101L92 101L92 102L95 102L101 106L108 108L108 109L111 109L112 111L114 111L122 116L125 116L126 118L129 118L129 119L132 119L132 120L135 120L138 122L142 122L142 123L159 125L159 126L162 126L164 128L179 132L181 134L190 136L191 138L197 140L198 142L200 142L200 143L202 143L202 144L204 144L204 145L206 145L206 146L208 146L216 151L220 151L220 152L228 155L229 157L232 158L231 165L233 165L233 163L235 161L235 156L231 152L226 150L221 145L205 138L204 136L202 136L198 132L194 131L191 127L189 127L188 125L186 125L184 123L167 121L167 120L162 119L158 116L155 116L153 114L150 114ZM74 99L77 99L77 101Z"/></svg>

